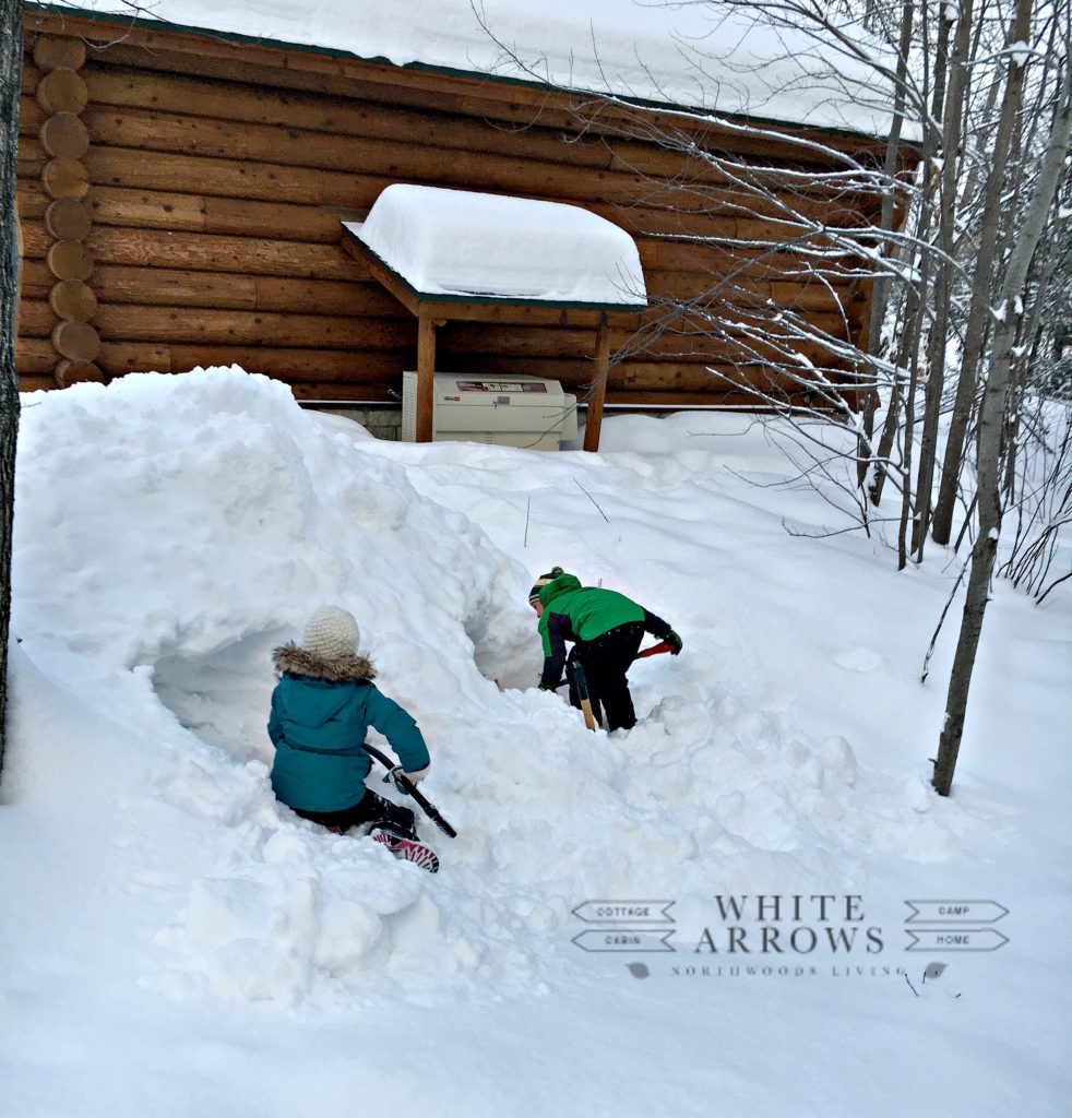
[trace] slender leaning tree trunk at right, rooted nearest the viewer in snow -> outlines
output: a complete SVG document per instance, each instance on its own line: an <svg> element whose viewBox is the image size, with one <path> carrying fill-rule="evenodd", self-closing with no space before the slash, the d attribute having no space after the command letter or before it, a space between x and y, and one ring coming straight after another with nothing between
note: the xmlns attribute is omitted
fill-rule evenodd
<svg viewBox="0 0 1072 1118"><path fill-rule="evenodd" d="M1018 64L1014 61L1013 65ZM977 451L979 534L971 549L971 574L968 577L964 618L946 698L946 719L938 743L938 759L935 762L933 785L940 796L948 796L952 787L954 770L964 735L968 690L971 685L971 673L979 646L979 635L983 632L983 617L986 613L1002 529L1002 436L1012 388L1013 347L1018 321L1016 307L1023 299L1027 269L1064 172L1070 138L1072 138L1072 58L1065 55L1064 74L1054 110L1050 142L1043 154L1034 195L1002 284L1000 316L994 331L990 372L979 414Z"/></svg>

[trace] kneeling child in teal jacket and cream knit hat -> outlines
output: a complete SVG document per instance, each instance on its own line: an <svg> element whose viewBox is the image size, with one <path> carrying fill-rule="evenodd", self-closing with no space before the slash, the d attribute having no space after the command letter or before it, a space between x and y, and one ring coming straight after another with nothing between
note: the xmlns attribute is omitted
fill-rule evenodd
<svg viewBox="0 0 1072 1118"><path fill-rule="evenodd" d="M366 788L372 760L362 746L370 726L379 730L401 762L398 770L414 783L428 773L428 748L412 718L372 682L371 662L358 654L359 635L351 614L323 606L301 645L273 653L282 674L268 719L272 788L298 815L333 831L371 824L415 839L414 813Z"/></svg>

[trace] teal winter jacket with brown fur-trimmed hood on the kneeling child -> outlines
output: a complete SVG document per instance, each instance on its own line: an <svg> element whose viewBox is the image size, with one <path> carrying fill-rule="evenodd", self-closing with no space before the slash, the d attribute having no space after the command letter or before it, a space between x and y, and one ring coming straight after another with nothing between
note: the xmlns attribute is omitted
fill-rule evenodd
<svg viewBox="0 0 1072 1118"><path fill-rule="evenodd" d="M272 788L303 812L342 812L364 797L372 760L362 749L369 727L390 742L407 773L428 764L417 723L372 683L363 656L323 661L295 644L276 648L283 673L272 693L268 737L275 746Z"/></svg>

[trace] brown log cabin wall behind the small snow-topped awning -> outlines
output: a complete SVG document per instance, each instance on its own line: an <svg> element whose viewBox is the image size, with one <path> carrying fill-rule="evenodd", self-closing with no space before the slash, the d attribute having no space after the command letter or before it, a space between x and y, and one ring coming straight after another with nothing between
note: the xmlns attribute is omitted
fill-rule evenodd
<svg viewBox="0 0 1072 1118"><path fill-rule="evenodd" d="M415 368L417 323L341 248L340 218L360 218L399 181L573 202L634 236L653 306L618 339L609 404L751 401L705 367L763 377L761 344L682 320L657 328L662 302L699 296L749 254L733 296L742 319L749 300L772 300L858 340L865 284L808 281L800 260L761 244L687 239L781 235L762 210L742 215L740 195L710 168L614 135L619 126L581 130L568 95L478 77L28 17L21 388L237 363L298 399L392 398ZM725 142L766 160L777 180L788 154L777 140ZM877 200L797 189L794 205L844 216ZM581 395L591 379L594 332L566 314L553 328L507 314L439 333L444 370L548 376Z"/></svg>

